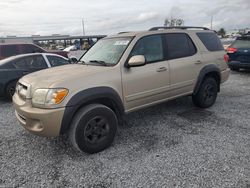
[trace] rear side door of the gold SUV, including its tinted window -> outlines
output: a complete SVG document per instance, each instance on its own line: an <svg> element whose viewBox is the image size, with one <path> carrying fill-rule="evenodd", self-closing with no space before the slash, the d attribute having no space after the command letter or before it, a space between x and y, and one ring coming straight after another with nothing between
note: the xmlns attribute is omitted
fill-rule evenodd
<svg viewBox="0 0 250 188"><path fill-rule="evenodd" d="M202 68L200 55L186 33L165 34L170 66L170 88L173 96L192 93Z"/></svg>

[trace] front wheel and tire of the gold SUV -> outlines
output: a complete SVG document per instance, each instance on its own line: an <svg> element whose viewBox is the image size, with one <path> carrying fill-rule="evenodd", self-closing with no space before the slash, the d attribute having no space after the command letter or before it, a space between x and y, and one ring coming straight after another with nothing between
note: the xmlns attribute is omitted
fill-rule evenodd
<svg viewBox="0 0 250 188"><path fill-rule="evenodd" d="M86 153L97 153L108 148L117 131L116 114L101 104L91 104L74 116L69 140L74 148Z"/></svg>

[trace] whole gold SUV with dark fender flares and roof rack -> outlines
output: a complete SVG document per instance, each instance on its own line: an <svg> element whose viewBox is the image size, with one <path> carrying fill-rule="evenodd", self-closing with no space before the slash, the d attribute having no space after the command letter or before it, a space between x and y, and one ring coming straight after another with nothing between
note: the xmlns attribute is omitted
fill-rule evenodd
<svg viewBox="0 0 250 188"><path fill-rule="evenodd" d="M77 64L35 72L18 81L16 117L29 132L67 133L87 153L114 140L124 114L181 96L215 103L229 76L225 51L202 27L155 27L98 41Z"/></svg>

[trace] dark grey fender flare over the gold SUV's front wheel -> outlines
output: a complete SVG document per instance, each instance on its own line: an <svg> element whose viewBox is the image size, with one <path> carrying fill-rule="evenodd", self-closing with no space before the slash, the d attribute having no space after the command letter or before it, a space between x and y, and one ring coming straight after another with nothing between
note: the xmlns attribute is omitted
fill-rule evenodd
<svg viewBox="0 0 250 188"><path fill-rule="evenodd" d="M76 93L66 104L60 133L63 134L68 130L74 115L80 108L84 105L92 103L92 101L94 102L100 99L112 101L111 105L114 106L118 119L121 119L124 115L124 106L119 94L114 89L110 87L94 87L85 89Z"/></svg>

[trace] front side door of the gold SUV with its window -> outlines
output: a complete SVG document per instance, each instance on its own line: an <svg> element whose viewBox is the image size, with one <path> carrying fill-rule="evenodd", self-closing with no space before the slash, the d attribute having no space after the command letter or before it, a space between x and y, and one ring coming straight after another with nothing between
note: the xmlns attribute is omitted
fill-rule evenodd
<svg viewBox="0 0 250 188"><path fill-rule="evenodd" d="M146 65L124 68L123 94L126 111L132 111L169 96L169 64L165 60L163 36L143 37L137 41L129 57L144 55Z"/></svg>

